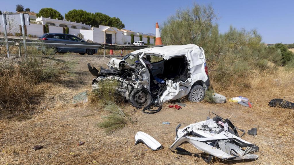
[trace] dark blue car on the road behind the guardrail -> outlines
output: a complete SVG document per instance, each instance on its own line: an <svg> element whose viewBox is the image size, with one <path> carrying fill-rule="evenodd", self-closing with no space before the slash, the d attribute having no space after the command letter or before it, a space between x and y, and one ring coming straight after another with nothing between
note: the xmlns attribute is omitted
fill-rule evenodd
<svg viewBox="0 0 294 165"><path fill-rule="evenodd" d="M72 42L85 42L81 38L78 38L77 36L71 35L71 34L63 34L63 33L44 33L43 36L39 37L39 40L41 41L72 41ZM45 48L41 48L43 50ZM45 53L43 50L42 52ZM56 53L66 53L66 52L73 52L73 53L79 53L80 55L88 54L93 55L94 53L97 53L97 49L86 49L86 48L56 48Z"/></svg>

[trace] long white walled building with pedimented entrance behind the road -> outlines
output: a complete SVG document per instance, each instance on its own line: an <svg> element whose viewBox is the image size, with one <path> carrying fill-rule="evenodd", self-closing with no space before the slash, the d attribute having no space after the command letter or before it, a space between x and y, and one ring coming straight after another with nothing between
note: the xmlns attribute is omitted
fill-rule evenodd
<svg viewBox="0 0 294 165"><path fill-rule="evenodd" d="M26 25L26 34L41 37L44 34L44 26L48 24L49 33L64 33L64 28L69 28L69 34L78 35L83 34L85 40L91 40L94 43L109 43L109 44L126 44L131 43L131 34L134 35L134 41L139 41L139 35L133 31L126 29L118 29L115 27L99 25L99 27L92 27L84 23L71 22L66 20L58 20L51 18L39 17L36 18L36 23ZM20 33L19 25L7 25L7 31L15 34ZM3 26L0 24L0 32L3 32ZM147 36L142 39L147 43ZM154 43L153 36L150 36L150 44Z"/></svg>

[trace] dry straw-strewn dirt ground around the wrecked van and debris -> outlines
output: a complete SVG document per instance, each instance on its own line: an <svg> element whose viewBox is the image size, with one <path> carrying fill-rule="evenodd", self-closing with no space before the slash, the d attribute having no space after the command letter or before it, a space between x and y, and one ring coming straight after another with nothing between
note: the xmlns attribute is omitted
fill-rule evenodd
<svg viewBox="0 0 294 165"><path fill-rule="evenodd" d="M66 56L56 59L75 63L73 74L64 83L52 86L39 112L31 117L20 115L0 121L0 164L206 164L199 158L203 152L191 144L182 144L181 147L195 153L194 156L173 153L168 147L174 142L175 128L179 123L183 128L206 120L209 112L230 118L236 127L246 132L258 128L257 136L246 133L242 139L260 149L256 153L258 160L214 160L213 164L294 164L294 130L285 124L286 120L293 120L293 116L289 116L293 110L268 107L269 100L273 99L271 96L259 91L237 93L248 97L253 102L252 108L232 102L186 102L186 107L176 110L168 108L174 103L166 103L160 112L151 115L126 105L122 108L132 112L137 122L106 135L97 126L106 112L89 103L73 104L72 98L79 92L91 91L94 77L88 71L87 63L96 68L100 65L106 67L111 58ZM227 100L238 96L231 91L221 94ZM293 102L293 91L285 99ZM162 122L171 124L164 125ZM152 151L142 143L134 145L134 136L138 131L151 135L164 148ZM77 146L79 141L86 143ZM34 151L32 147L35 145L44 148Z"/></svg>

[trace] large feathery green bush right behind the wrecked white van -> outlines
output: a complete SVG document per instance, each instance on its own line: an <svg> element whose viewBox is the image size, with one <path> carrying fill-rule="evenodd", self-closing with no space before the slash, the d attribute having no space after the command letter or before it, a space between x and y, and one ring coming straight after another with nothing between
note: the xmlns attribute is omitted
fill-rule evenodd
<svg viewBox="0 0 294 165"><path fill-rule="evenodd" d="M256 30L230 26L227 32L220 34L216 20L209 5L194 4L191 8L180 9L163 23L162 41L166 45L203 47L212 82L224 88L231 84L248 87L245 81L248 73L253 70L272 73L276 65L281 65L281 60L285 63L287 57L289 61L289 55L283 55L285 48L265 46Z"/></svg>

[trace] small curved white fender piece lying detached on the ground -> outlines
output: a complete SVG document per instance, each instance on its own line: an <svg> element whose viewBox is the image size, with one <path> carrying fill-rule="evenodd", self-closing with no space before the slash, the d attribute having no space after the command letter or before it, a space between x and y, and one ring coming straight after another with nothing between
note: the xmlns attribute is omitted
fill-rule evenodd
<svg viewBox="0 0 294 165"><path fill-rule="evenodd" d="M139 142L144 143L147 147L151 148L153 151L162 149L162 145L155 140L150 135L146 134L145 132L137 132L135 135L135 145Z"/></svg>

